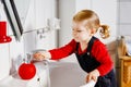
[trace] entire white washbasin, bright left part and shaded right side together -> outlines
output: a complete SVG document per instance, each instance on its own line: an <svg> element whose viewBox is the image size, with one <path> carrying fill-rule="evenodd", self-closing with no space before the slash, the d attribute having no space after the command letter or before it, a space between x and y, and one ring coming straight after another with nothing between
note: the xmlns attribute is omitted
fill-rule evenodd
<svg viewBox="0 0 131 87"><path fill-rule="evenodd" d="M0 80L0 87L80 87L85 84L86 73L78 63L45 61L34 63L34 78L23 80L17 74Z"/></svg>

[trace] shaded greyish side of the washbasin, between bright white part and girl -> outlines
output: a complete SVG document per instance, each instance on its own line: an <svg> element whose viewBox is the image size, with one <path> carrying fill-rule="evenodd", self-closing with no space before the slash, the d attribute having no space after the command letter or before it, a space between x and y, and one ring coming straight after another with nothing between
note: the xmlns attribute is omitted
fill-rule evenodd
<svg viewBox="0 0 131 87"><path fill-rule="evenodd" d="M50 87L80 87L85 84L86 73L78 63L50 62Z"/></svg>

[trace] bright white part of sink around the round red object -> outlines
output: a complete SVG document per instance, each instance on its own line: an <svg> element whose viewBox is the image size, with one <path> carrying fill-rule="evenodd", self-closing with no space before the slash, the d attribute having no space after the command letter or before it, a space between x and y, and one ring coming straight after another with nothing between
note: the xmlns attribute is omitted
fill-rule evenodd
<svg viewBox="0 0 131 87"><path fill-rule="evenodd" d="M48 65L44 62L34 64L37 70L34 78L24 80L15 73L0 80L0 87L49 87Z"/></svg>

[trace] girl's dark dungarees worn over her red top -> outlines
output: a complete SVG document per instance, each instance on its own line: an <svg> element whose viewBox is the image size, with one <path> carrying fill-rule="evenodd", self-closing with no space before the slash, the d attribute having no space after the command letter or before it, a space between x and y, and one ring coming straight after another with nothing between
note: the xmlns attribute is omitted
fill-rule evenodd
<svg viewBox="0 0 131 87"><path fill-rule="evenodd" d="M92 37L92 39L88 42L86 53L81 55L78 53L79 44L76 44L75 51L76 59L80 63L80 66L87 73L92 72L93 70L97 69L100 65L100 63L91 53L93 44L96 39L97 39L96 37ZM95 87L117 87L114 70L111 70L105 76L99 76Z"/></svg>

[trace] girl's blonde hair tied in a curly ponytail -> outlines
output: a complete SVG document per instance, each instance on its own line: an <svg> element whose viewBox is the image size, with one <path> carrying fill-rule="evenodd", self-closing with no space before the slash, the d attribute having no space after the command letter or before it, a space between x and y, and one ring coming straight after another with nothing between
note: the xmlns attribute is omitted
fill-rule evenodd
<svg viewBox="0 0 131 87"><path fill-rule="evenodd" d="M74 22L81 22L87 20L87 28L95 29L96 32L100 28L99 33L102 38L106 39L109 37L109 26L100 25L98 15L92 10L82 10L73 16Z"/></svg>

